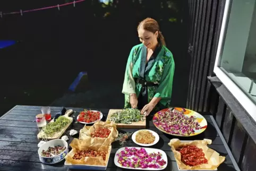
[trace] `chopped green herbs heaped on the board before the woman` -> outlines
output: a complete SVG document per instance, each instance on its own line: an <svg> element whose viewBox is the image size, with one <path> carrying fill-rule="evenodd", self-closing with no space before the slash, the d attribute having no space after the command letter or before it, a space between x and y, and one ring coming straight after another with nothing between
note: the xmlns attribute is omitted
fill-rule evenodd
<svg viewBox="0 0 256 171"><path fill-rule="evenodd" d="M122 124L131 124L132 122L139 122L144 120L144 115L141 115L138 109L124 109L113 113L109 121Z"/></svg>

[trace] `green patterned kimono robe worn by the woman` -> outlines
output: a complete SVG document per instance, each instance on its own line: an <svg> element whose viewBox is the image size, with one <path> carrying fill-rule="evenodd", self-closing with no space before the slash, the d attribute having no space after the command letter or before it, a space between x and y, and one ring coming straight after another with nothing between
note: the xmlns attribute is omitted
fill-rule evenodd
<svg viewBox="0 0 256 171"><path fill-rule="evenodd" d="M136 82L136 79L143 79L155 84L155 86L146 87L147 102L150 102L153 97L161 97L153 110L169 107L175 69L173 55L165 46L159 45L148 62L146 58L147 48L143 44L132 48L126 64L122 90L125 95L124 108L131 108L131 93L136 93L139 101L143 86Z"/></svg>

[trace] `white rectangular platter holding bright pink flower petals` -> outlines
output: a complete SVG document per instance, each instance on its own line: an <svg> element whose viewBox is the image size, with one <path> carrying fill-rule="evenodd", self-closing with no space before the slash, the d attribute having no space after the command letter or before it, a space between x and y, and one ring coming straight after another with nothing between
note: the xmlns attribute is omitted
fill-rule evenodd
<svg viewBox="0 0 256 171"><path fill-rule="evenodd" d="M127 147L127 148L136 148L136 149L141 149L141 147ZM120 148L116 151L115 153L115 158L114 158L114 163L117 167L121 167L121 168L125 168L125 169L136 169L136 170L163 170L167 167L168 165L168 160L167 160L167 156L166 153L162 150L159 149L153 149L153 148L144 148L148 153L151 152L155 152L155 153L161 153L162 154L162 158L166 161L166 164L163 166L163 168L132 168L132 167L123 167L118 163L118 157L117 157L117 153L121 152L122 150L124 150L125 147Z"/></svg>

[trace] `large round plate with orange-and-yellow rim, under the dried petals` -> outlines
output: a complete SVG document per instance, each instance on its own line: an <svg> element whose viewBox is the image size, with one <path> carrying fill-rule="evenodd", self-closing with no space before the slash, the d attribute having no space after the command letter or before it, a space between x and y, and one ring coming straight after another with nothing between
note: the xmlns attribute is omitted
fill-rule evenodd
<svg viewBox="0 0 256 171"><path fill-rule="evenodd" d="M185 113L183 113L184 115L186 115L187 117L190 117L190 116L195 116L197 117L197 121L199 123L199 125L202 127L200 130L194 130L195 132L190 134L190 135L178 135L178 134L171 134L171 133L168 133L162 129L160 129L156 124L155 124L155 120L153 119L153 124L156 126L156 128L161 131L161 132L164 132L166 134L170 134L170 135L174 135L174 136L194 136L194 135L198 135L200 133L202 133L203 131L205 131L207 129L207 121L206 121L206 118L204 118L202 115L200 115L199 113L197 112L194 112L193 110L189 110L189 109L185 109L185 108L177 108L177 107L174 107L174 108L166 108L166 109L163 109L163 110L160 110L159 112L157 112L153 118L155 117L158 117L158 113L160 112L166 112L167 110L174 110L174 109L183 109L185 110Z"/></svg>

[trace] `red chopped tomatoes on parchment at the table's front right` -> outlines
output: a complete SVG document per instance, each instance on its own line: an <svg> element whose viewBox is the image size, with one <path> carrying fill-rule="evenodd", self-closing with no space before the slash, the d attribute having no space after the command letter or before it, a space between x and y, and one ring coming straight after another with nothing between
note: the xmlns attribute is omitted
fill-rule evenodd
<svg viewBox="0 0 256 171"><path fill-rule="evenodd" d="M204 157L204 152L196 146L182 146L176 149L181 153L181 161L188 166L207 164L208 160Z"/></svg>

